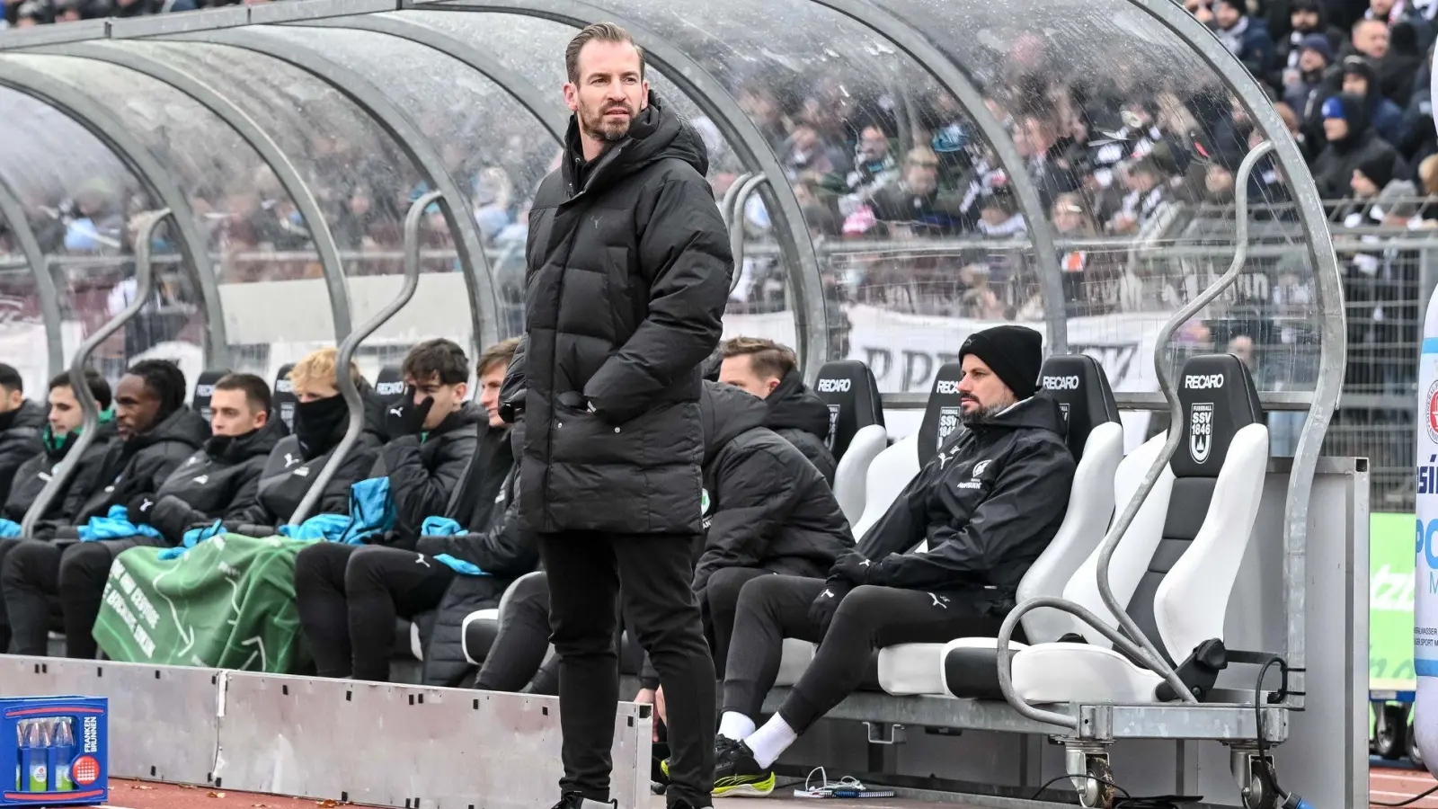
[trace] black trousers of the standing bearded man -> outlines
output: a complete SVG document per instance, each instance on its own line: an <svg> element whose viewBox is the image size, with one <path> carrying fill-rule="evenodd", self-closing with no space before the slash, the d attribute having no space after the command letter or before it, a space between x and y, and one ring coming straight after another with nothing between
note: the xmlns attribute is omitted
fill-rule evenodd
<svg viewBox="0 0 1438 809"><path fill-rule="evenodd" d="M618 602L659 669L669 707L667 803L712 805L715 669L689 587L692 537L541 534L549 632L559 656L562 792L608 800L618 702Z"/></svg>

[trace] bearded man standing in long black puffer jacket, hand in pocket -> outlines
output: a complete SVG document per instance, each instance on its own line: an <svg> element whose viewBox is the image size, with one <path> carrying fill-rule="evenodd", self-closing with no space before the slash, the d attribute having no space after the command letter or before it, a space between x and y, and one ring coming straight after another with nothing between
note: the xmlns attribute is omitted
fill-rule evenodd
<svg viewBox="0 0 1438 809"><path fill-rule="evenodd" d="M521 515L549 574L562 661L558 808L608 806L623 596L670 694L667 805L699 809L712 803L715 721L689 589L702 531L699 364L722 333L729 233L703 140L649 91L630 35L585 27L565 68L575 115L531 209L526 335L503 394L506 422L526 410Z"/></svg>

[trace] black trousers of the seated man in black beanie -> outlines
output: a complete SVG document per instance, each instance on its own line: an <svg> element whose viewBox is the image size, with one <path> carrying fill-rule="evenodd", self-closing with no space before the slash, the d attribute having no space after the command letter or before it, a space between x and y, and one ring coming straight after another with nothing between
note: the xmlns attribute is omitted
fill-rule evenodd
<svg viewBox="0 0 1438 809"><path fill-rule="evenodd" d="M765 576L745 584L723 682L725 711L758 718L764 695L779 675L784 639L820 642L808 609L821 592L823 579L797 576ZM838 605L814 662L779 705L779 715L798 733L808 730L858 687L874 649L998 636L1004 613L989 605L922 590L856 587Z"/></svg>

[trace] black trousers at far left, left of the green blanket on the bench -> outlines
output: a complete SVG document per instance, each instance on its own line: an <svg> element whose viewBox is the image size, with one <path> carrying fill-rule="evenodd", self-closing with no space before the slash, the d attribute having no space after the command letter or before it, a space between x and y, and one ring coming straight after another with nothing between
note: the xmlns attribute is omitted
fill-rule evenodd
<svg viewBox="0 0 1438 809"><path fill-rule="evenodd" d="M63 615L65 656L95 659L95 618L99 616L109 566L121 551L160 546L162 540L127 537L98 543L26 540L4 557L0 590L17 655L45 655L56 597Z"/></svg>

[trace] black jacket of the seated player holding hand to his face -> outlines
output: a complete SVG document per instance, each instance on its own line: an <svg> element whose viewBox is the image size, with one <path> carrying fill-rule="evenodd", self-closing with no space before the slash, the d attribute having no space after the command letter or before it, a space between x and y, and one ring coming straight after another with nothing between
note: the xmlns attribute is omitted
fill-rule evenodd
<svg viewBox="0 0 1438 809"><path fill-rule="evenodd" d="M414 547L426 517L444 514L479 443L479 410L466 404L424 436L406 435L380 448L372 478L390 478L394 500L391 543Z"/></svg>

